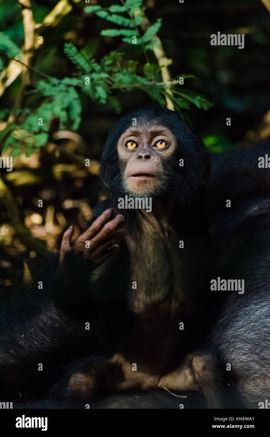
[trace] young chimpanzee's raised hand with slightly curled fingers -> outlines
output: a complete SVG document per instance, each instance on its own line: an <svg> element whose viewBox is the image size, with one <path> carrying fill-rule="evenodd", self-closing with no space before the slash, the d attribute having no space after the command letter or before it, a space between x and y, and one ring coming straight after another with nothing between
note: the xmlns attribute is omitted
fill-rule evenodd
<svg viewBox="0 0 270 437"><path fill-rule="evenodd" d="M103 262L119 250L120 242L126 235L124 229L117 229L124 221L121 214L116 215L107 222L112 214L111 209L106 209L79 238L73 246L70 239L74 232L70 226L64 233L60 249L60 265L63 264L66 255L75 255L89 260L93 268Z"/></svg>

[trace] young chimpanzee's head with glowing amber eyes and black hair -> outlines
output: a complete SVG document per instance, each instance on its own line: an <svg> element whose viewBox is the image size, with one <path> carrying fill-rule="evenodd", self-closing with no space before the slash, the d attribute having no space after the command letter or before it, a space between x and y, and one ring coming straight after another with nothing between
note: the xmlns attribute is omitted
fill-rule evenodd
<svg viewBox="0 0 270 437"><path fill-rule="evenodd" d="M99 174L106 198L114 204L123 194L170 197L187 211L198 200L208 163L202 140L178 114L152 107L116 123L106 140Z"/></svg>

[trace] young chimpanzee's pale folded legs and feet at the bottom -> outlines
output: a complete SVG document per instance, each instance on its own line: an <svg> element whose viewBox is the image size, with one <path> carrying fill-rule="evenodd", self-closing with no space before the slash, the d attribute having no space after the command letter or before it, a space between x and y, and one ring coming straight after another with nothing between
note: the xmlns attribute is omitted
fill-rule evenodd
<svg viewBox="0 0 270 437"><path fill-rule="evenodd" d="M94 396L110 390L163 388L173 391L198 391L205 396L209 408L222 408L222 375L215 354L195 352L188 354L180 366L159 378L140 371L120 354L105 360L98 366L75 372L68 382L70 393Z"/></svg>

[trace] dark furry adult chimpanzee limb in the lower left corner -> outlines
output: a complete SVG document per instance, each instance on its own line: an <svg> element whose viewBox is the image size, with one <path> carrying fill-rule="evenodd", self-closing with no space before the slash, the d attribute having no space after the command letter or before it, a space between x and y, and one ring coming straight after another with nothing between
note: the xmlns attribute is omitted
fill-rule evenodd
<svg viewBox="0 0 270 437"><path fill-rule="evenodd" d="M80 348L91 351L91 334L49 302L31 319L13 320L0 335L1 399L43 396Z"/></svg>

